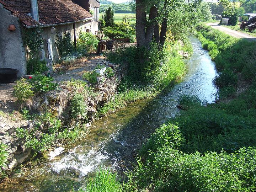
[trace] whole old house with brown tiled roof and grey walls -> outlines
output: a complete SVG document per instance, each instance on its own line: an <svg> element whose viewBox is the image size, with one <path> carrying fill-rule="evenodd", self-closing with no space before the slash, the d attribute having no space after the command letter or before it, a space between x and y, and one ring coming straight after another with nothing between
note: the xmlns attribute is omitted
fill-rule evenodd
<svg viewBox="0 0 256 192"><path fill-rule="evenodd" d="M80 31L98 31L99 7L96 0L0 0L0 68L18 69L19 77L26 75L22 33L36 26L44 39L40 58L55 62L58 36L69 32L76 41Z"/></svg>

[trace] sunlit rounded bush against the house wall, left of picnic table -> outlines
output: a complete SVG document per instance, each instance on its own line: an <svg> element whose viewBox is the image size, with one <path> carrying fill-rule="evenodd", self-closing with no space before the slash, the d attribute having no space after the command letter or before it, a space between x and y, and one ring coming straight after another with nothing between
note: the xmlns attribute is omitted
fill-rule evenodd
<svg viewBox="0 0 256 192"><path fill-rule="evenodd" d="M80 32L79 38L76 41L78 50L86 50L94 52L98 46L98 39L92 33Z"/></svg>

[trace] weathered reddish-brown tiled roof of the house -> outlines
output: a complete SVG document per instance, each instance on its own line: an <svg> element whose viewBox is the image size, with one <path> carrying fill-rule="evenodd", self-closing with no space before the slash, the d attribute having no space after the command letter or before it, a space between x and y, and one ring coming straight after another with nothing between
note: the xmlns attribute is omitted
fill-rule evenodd
<svg viewBox="0 0 256 192"><path fill-rule="evenodd" d="M37 25L30 13L30 0L0 0L5 9L12 12L27 26ZM39 23L52 25L83 20L92 15L72 0L38 0Z"/></svg>

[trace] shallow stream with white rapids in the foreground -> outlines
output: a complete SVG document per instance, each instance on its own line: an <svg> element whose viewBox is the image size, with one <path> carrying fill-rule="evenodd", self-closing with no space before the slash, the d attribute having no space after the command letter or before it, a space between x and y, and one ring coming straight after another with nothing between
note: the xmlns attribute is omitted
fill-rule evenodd
<svg viewBox="0 0 256 192"><path fill-rule="evenodd" d="M69 191L71 185L75 189L84 185L85 177L98 167L122 172L125 166L131 167L137 150L154 129L179 112L181 95L194 94L214 102L214 63L198 39L190 39L194 53L185 59L187 74L170 92L135 102L92 123L89 135L75 148L55 157L53 154L52 160L26 173L26 177L15 178L16 183L4 183L4 191Z"/></svg>

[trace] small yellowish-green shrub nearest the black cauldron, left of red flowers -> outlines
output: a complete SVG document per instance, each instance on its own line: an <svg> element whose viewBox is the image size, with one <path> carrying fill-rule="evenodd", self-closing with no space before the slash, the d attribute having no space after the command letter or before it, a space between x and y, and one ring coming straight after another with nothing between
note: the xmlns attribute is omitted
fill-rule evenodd
<svg viewBox="0 0 256 192"><path fill-rule="evenodd" d="M18 102L26 101L34 95L34 92L31 90L33 86L26 79L22 78L16 82L17 85L14 86L13 94L18 99Z"/></svg>

